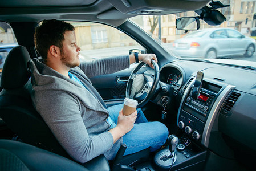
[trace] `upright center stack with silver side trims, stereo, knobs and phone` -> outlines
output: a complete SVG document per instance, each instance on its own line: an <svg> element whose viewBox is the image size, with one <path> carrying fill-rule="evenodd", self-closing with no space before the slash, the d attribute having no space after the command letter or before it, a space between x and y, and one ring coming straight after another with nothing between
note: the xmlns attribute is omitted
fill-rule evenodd
<svg viewBox="0 0 256 171"><path fill-rule="evenodd" d="M189 80L178 109L177 125L194 143L208 147L218 110L234 86L204 78L202 72Z"/></svg>

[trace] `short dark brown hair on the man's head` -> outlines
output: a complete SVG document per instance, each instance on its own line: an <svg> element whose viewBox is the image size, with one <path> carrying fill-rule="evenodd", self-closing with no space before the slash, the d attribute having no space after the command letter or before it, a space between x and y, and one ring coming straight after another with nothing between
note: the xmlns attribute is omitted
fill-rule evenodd
<svg viewBox="0 0 256 171"><path fill-rule="evenodd" d="M47 61L47 52L50 46L55 45L62 50L64 34L67 31L74 31L75 28L70 23L56 19L44 20L42 24L35 29L35 48Z"/></svg>

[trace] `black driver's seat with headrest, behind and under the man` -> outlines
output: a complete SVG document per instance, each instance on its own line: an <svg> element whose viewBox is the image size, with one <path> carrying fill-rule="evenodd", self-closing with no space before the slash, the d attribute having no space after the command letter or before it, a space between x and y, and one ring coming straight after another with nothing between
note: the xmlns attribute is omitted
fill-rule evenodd
<svg viewBox="0 0 256 171"><path fill-rule="evenodd" d="M2 117L11 131L17 133L24 143L38 146L72 160L32 105L30 96L32 84L30 82L30 73L27 71L29 60L30 55L23 46L14 47L7 55L0 84L3 88L0 92L0 117ZM144 161L148 156L149 149L145 149L141 152L124 156L121 163L125 165L136 164ZM99 158L105 165L104 160L107 161L107 159L104 155L101 154ZM94 166L95 162L96 159L89 161L89 166L85 165L87 167ZM99 161L96 163L98 163L97 166L100 166Z"/></svg>

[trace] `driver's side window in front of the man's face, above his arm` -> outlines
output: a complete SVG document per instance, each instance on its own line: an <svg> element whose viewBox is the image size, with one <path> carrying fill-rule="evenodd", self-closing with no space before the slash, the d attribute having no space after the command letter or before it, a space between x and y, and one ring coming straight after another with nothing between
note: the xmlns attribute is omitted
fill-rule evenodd
<svg viewBox="0 0 256 171"><path fill-rule="evenodd" d="M128 55L131 49L144 50L139 43L116 28L92 22L70 23L75 27L82 60Z"/></svg>

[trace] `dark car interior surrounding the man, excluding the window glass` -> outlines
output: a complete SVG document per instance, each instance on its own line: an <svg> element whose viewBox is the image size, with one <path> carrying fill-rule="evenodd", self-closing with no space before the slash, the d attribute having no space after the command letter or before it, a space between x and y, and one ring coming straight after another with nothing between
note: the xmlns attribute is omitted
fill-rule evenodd
<svg viewBox="0 0 256 171"><path fill-rule="evenodd" d="M253 64L241 67L176 58L129 19L194 11L197 17L176 21L180 30L188 32L199 29L199 20L221 25L226 18L216 9L226 6L208 0L1 1L0 21L10 25L18 46L7 55L1 75L0 170L255 170ZM109 107L123 103L136 76L142 75L143 85L131 97L139 101L149 121L161 121L168 128L169 137L161 149L123 156L123 145L115 160L101 154L83 164L67 154L31 100L30 62L40 56L34 33L44 19L101 23L135 40L144 48L141 53L156 54L154 69L140 62L90 80ZM192 22L196 24L190 28Z"/></svg>

